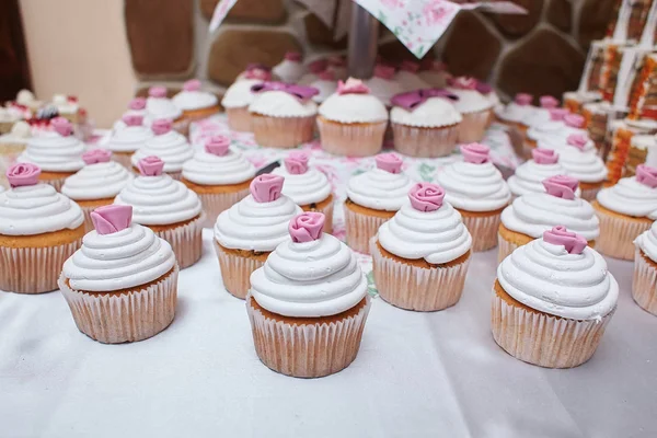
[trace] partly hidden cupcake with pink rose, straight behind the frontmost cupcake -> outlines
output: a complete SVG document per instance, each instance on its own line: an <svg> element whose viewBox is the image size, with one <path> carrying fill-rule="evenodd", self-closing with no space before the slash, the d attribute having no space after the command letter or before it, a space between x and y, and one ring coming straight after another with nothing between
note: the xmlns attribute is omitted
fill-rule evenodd
<svg viewBox="0 0 657 438"><path fill-rule="evenodd" d="M333 232L333 192L328 178L322 172L308 166L308 153L290 152L284 165L272 172L285 177L283 194L303 211L319 211L324 215L324 232Z"/></svg>

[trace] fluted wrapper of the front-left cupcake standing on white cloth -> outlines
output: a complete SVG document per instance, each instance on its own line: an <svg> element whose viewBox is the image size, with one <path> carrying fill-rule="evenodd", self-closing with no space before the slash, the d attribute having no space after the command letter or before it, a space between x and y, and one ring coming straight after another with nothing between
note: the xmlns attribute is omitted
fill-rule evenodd
<svg viewBox="0 0 657 438"><path fill-rule="evenodd" d="M146 289L126 293L89 293L59 287L80 332L104 344L143 341L171 324L177 302L177 266Z"/></svg>

